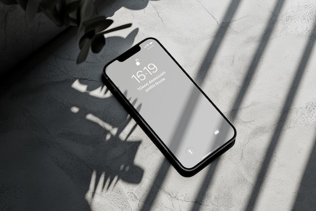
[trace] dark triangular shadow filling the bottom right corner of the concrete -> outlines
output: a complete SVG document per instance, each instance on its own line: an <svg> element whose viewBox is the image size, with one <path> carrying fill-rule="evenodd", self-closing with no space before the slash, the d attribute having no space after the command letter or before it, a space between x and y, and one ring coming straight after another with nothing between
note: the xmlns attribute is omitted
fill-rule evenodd
<svg viewBox="0 0 316 211"><path fill-rule="evenodd" d="M302 177L300 187L298 189L295 203L292 207L293 211L315 210L315 185L316 185L316 138L314 139L314 145L307 162L304 175Z"/></svg>

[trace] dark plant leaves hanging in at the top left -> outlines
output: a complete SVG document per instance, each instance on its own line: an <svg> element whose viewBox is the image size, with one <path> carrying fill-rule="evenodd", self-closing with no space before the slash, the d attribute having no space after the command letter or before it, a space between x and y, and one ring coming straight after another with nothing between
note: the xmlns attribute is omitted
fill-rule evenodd
<svg viewBox="0 0 316 211"><path fill-rule="evenodd" d="M20 5L25 10L28 24L32 22L36 13L43 12L57 26L78 26L78 31L85 28L80 38L80 53L77 64L84 62L89 53L99 53L106 44L104 34L130 27L132 24L122 25L106 30L113 20L104 16L92 17L93 0L0 0L6 5Z"/></svg>

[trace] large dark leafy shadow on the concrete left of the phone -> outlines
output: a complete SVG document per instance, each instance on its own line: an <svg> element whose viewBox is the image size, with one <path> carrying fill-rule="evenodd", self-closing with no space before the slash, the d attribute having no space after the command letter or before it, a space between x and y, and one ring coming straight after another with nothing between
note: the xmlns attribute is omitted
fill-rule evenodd
<svg viewBox="0 0 316 211"><path fill-rule="evenodd" d="M61 33L0 81L0 209L90 210L92 176L108 191L143 177L134 163L141 141L126 141L135 123L106 90L104 98L90 95L103 87L102 68L114 56L76 65L75 34ZM122 53L136 34L107 41ZM78 78L86 91L71 87ZM120 203L125 209L127 199Z"/></svg>

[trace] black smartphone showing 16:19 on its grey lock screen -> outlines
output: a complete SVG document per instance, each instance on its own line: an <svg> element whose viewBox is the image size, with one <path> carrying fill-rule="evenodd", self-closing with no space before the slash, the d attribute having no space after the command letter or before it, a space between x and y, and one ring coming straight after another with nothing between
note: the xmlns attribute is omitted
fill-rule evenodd
<svg viewBox="0 0 316 211"><path fill-rule="evenodd" d="M106 86L183 176L235 142L236 129L155 38L103 69Z"/></svg>

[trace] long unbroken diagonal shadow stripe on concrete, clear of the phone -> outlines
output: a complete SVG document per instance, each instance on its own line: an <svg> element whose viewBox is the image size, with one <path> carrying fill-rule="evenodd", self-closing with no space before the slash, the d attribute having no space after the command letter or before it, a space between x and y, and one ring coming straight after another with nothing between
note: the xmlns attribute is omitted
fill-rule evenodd
<svg viewBox="0 0 316 211"><path fill-rule="evenodd" d="M297 67L296 74L295 74L295 77L293 79L291 88L286 96L286 102L285 102L284 107L281 111L281 114L280 114L280 117L279 117L279 120L277 123L277 127L274 131L274 135L273 135L272 139L270 140L270 144L269 144L268 149L266 151L266 155L264 156L264 159L262 160L263 163L261 165L260 171L257 173L257 178L256 178L256 181L255 181L254 186L252 188L252 192L249 195L250 198L247 202L247 206L245 209L247 211L253 210L253 208L255 206L256 199L257 199L259 191L260 191L260 188L262 186L262 183L265 181L266 173L267 173L267 170L269 168L270 161L273 157L274 150L276 149L278 141L280 139L281 132L284 128L284 124L285 124L287 116L289 114L289 110L292 106L293 101L295 100L295 95L296 95L299 83L301 81L301 78L305 72L306 64L308 62L309 56L310 56L312 49L314 47L315 40L316 40L316 25L313 27L313 30L311 31L311 34L310 34L309 39L307 41L307 44L305 46L305 50L304 50L304 53L301 57L301 61Z"/></svg>

